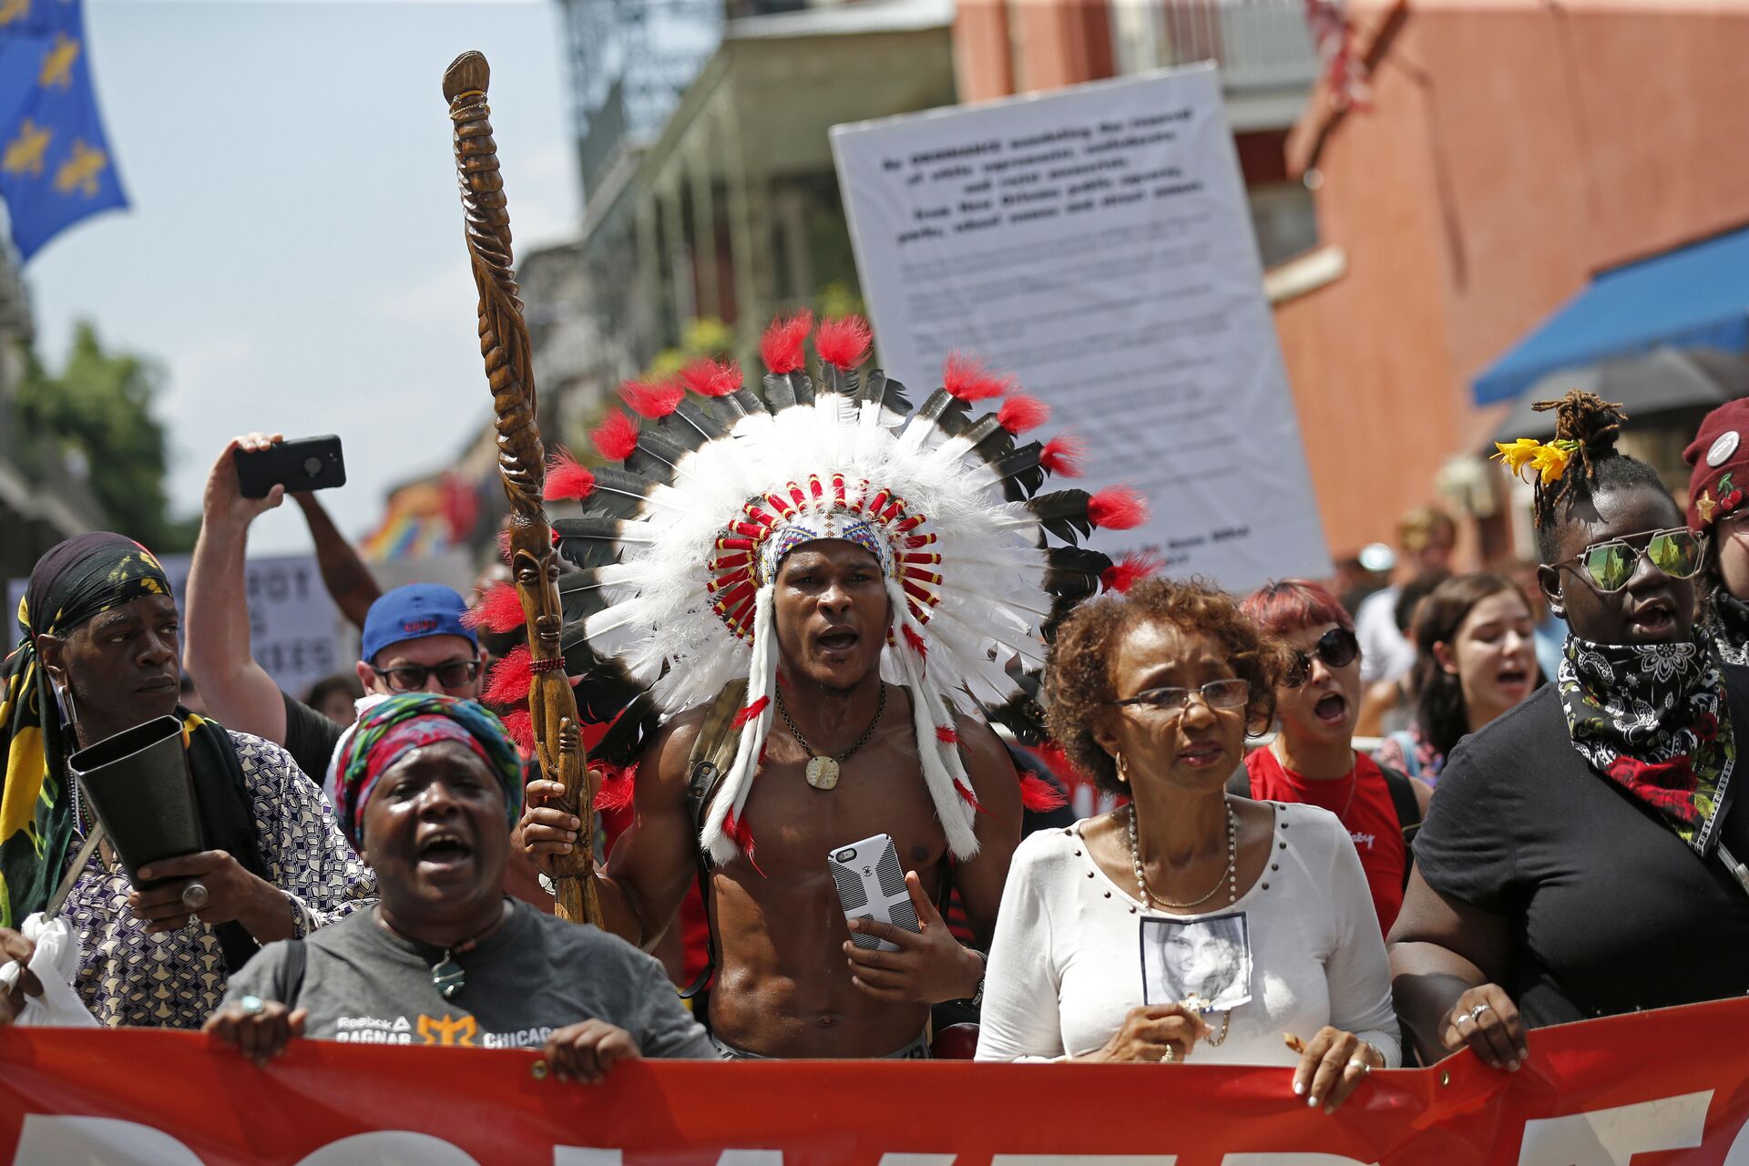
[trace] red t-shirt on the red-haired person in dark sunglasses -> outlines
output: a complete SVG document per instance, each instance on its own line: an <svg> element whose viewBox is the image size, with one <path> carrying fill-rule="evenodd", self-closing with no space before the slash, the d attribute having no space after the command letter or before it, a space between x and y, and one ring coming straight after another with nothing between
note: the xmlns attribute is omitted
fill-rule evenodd
<svg viewBox="0 0 1749 1166"><path fill-rule="evenodd" d="M1389 935L1403 909L1408 853L1385 774L1373 759L1357 752L1350 778L1312 781L1282 766L1273 750L1258 748L1245 757L1245 769L1251 773L1251 795L1258 801L1319 806L1341 820L1361 855L1361 869L1373 892L1373 911L1378 913L1378 930Z"/></svg>

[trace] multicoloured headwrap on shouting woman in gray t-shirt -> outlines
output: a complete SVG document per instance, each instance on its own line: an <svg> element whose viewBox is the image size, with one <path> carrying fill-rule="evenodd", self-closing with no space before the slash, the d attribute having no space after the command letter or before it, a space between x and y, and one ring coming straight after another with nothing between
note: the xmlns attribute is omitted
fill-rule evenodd
<svg viewBox="0 0 1749 1166"><path fill-rule="evenodd" d="M360 846L364 808L376 780L422 745L462 741L474 750L504 787L504 815L511 829L523 813L523 757L504 734L504 724L479 701L441 692L404 692L369 708L348 738L334 774L334 801L346 841Z"/></svg>

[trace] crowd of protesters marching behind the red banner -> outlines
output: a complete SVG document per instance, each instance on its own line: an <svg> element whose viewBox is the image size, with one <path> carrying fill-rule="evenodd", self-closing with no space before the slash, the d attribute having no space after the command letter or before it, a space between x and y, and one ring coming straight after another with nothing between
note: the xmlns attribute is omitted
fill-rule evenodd
<svg viewBox="0 0 1749 1166"><path fill-rule="evenodd" d="M70 540L31 573L0 706L0 951L28 963L52 907L100 1023L205 1028L259 1059L292 1038L423 1038L540 1047L595 1080L637 1056L922 1058L932 1010L957 1009L979 1059L1284 1065L1284 1101L1326 1110L1375 1068L1469 1047L1515 1070L1530 1028L1740 996L1749 402L1690 448L1686 519L1616 449L1618 407L1576 392L1557 416L1551 444L1502 448L1536 475L1534 593L1516 572L1452 573L1455 524L1418 509L1396 586L1357 610L1298 579L1084 600L1044 661L1049 748L976 717L943 736L983 811L971 858L925 794L918 698L880 678L890 600L869 551L789 547L784 727L761 764L792 780L764 783L764 811L803 820L803 769L859 753L847 774L883 783L833 802L833 829L894 839L915 928L810 914L833 881L815 832L700 860L687 781L722 739L714 706L644 755L598 879L605 930L558 921L535 857L596 823L477 703L460 594L378 593L299 498L362 656L308 703L252 659L247 531L282 493L241 498L231 449L276 439L240 439L208 482L180 659L168 580L126 537ZM827 605L845 643L791 635ZM815 689L850 696L810 704ZM154 717L184 725L210 848L129 872L68 759ZM1023 816L1014 757L1116 808ZM714 981L689 1014L644 951L677 942L694 888ZM0 982L3 1024L40 984Z"/></svg>

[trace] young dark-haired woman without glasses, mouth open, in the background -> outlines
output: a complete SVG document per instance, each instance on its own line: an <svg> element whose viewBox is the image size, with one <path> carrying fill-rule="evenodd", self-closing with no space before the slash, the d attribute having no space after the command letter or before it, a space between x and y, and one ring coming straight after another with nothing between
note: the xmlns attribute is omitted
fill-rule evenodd
<svg viewBox="0 0 1749 1166"><path fill-rule="evenodd" d="M1452 748L1541 684L1530 600L1506 575L1473 572L1415 612L1415 720L1385 738L1382 766L1434 785Z"/></svg>

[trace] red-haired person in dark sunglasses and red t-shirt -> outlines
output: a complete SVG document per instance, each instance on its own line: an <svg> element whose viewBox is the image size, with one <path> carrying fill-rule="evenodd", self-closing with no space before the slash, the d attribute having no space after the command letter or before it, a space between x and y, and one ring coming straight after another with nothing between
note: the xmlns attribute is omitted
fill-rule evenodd
<svg viewBox="0 0 1749 1166"><path fill-rule="evenodd" d="M1354 750L1361 708L1361 642L1348 612L1305 579L1272 582L1242 605L1289 652L1275 685L1275 739L1245 757L1228 788L1272 802L1305 802L1336 815L1354 839L1380 935L1403 907L1408 839L1432 790Z"/></svg>

